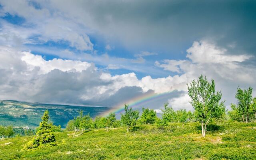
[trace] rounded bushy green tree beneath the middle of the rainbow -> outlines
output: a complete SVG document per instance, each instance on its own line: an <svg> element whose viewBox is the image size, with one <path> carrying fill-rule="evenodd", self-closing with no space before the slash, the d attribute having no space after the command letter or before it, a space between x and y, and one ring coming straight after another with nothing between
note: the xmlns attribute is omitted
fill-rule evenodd
<svg viewBox="0 0 256 160"><path fill-rule="evenodd" d="M156 112L152 109L143 107L140 119L144 124L154 124L156 122Z"/></svg>

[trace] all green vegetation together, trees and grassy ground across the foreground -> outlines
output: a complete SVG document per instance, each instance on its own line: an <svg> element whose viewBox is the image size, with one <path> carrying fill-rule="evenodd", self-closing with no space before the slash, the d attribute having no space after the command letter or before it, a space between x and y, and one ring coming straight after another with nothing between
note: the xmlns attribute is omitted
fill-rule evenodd
<svg viewBox="0 0 256 160"><path fill-rule="evenodd" d="M238 87L238 102L227 115L214 80L200 76L188 85L188 94L194 112L174 111L165 103L158 118L152 109L140 114L125 104L120 120L115 113L93 120L81 110L64 132L49 122L46 110L36 136L0 139L0 159L255 159L252 88ZM14 129L0 127L0 133L13 135Z"/></svg>

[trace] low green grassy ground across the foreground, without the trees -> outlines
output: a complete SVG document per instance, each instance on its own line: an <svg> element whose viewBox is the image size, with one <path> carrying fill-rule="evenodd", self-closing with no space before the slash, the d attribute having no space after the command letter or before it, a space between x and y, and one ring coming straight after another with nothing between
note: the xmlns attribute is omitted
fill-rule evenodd
<svg viewBox="0 0 256 160"><path fill-rule="evenodd" d="M245 160L256 159L256 123L210 124L205 138L197 123L56 133L57 146L22 150L32 136L0 140L1 160Z"/></svg>

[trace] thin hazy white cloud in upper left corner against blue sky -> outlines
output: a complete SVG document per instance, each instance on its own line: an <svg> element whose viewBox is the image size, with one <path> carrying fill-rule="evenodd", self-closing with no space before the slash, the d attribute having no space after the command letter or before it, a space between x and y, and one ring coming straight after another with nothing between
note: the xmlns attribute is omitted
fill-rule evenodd
<svg viewBox="0 0 256 160"><path fill-rule="evenodd" d="M67 41L71 47L77 50L93 50L94 45L87 35L89 31L81 30L79 22L65 17L60 12L53 12L50 8L36 9L28 1L10 0L0 3L2 6L0 14L9 13L25 18L25 24L22 26L14 26L1 21L4 27L1 28L0 35L7 41L5 43L13 43L13 40L19 40L19 43L22 44L40 44L50 40L54 42ZM10 38L13 40L10 41Z"/></svg>

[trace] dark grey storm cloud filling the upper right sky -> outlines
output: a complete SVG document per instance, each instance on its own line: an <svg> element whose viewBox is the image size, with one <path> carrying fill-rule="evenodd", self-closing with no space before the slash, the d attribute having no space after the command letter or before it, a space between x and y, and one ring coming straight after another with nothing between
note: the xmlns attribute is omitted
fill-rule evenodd
<svg viewBox="0 0 256 160"><path fill-rule="evenodd" d="M187 47L194 40L214 40L232 54L254 54L256 1L72 1L53 2L86 26L121 40L126 46L155 50ZM84 16L84 17L83 17Z"/></svg>

